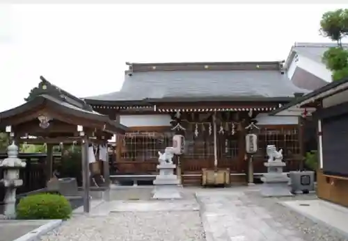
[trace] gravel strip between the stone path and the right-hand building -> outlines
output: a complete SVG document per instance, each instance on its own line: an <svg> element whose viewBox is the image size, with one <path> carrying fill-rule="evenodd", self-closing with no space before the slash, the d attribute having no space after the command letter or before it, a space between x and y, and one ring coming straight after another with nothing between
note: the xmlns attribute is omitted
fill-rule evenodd
<svg viewBox="0 0 348 241"><path fill-rule="evenodd" d="M317 196L313 194L296 195L294 197L262 198L258 192L245 192L246 203L251 203L269 211L275 222L286 224L294 231L301 233L306 241L348 241L348 238L324 224L317 224L311 219L294 212L290 208L281 205L280 201L313 200Z"/></svg>

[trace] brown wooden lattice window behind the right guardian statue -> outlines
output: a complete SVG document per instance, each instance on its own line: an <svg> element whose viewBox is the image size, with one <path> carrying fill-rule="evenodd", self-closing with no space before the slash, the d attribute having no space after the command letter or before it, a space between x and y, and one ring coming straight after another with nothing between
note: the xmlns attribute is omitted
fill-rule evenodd
<svg viewBox="0 0 348 241"><path fill-rule="evenodd" d="M268 159L266 147L274 144L278 149L283 149L283 160L294 160L300 154L299 131L297 128L262 128L258 133L258 153L256 156Z"/></svg>

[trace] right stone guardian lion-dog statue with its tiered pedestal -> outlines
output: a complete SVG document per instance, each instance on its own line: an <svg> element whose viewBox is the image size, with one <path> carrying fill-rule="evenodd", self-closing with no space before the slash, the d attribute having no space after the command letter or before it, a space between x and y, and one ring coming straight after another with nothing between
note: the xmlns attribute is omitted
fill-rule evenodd
<svg viewBox="0 0 348 241"><path fill-rule="evenodd" d="M267 174L264 174L261 178L263 184L260 192L263 197L287 197L292 196L289 190L289 180L285 174L283 174L283 167L285 163L283 160L282 150L276 151L274 145L267 146L267 155L269 160L264 163L267 167Z"/></svg>

